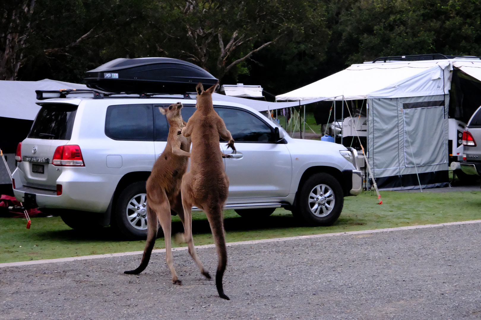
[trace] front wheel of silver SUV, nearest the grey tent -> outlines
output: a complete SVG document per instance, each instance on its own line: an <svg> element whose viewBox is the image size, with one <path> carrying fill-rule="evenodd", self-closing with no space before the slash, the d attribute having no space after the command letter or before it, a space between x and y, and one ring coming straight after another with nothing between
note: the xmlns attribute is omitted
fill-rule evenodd
<svg viewBox="0 0 481 320"><path fill-rule="evenodd" d="M294 217L309 225L329 226L337 221L344 205L339 181L328 173L316 173L301 187Z"/></svg>

